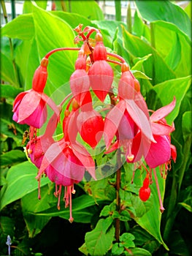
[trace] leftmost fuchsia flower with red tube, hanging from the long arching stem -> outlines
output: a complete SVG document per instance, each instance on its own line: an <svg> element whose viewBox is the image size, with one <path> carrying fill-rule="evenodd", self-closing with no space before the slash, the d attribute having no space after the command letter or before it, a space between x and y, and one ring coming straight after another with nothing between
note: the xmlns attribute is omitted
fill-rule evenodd
<svg viewBox="0 0 192 256"><path fill-rule="evenodd" d="M42 59L41 65L34 73L33 89L21 92L13 103L12 119L18 124L41 128L47 120L46 104L59 115L55 103L43 93L47 81L47 59Z"/></svg>

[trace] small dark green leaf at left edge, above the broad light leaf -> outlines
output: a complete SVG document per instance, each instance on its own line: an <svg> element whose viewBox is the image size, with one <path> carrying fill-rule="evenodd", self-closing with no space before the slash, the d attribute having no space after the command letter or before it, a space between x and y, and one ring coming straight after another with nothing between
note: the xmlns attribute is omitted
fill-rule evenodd
<svg viewBox="0 0 192 256"><path fill-rule="evenodd" d="M26 154L20 150L12 150L1 155L1 166L15 165L24 161L26 161Z"/></svg>

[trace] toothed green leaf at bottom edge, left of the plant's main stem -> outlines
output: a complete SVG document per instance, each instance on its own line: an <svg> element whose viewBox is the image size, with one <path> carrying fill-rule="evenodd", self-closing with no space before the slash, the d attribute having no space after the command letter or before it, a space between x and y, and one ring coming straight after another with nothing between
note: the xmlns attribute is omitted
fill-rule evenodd
<svg viewBox="0 0 192 256"><path fill-rule="evenodd" d="M90 255L105 255L112 246L115 227L111 226L106 230L104 219L99 219L96 227L85 235L85 244Z"/></svg>

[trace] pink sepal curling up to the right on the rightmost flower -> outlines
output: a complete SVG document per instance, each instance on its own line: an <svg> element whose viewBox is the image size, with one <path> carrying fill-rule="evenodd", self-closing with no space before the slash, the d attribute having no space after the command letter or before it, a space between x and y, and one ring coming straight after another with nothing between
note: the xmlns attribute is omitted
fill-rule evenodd
<svg viewBox="0 0 192 256"><path fill-rule="evenodd" d="M158 110L156 110L151 116L150 116L150 120L151 121L159 121L162 118L164 118L165 116L167 116L169 113L172 112L172 110L174 109L176 104L176 99L174 97L173 101L169 104L166 105L162 108L159 108Z"/></svg>

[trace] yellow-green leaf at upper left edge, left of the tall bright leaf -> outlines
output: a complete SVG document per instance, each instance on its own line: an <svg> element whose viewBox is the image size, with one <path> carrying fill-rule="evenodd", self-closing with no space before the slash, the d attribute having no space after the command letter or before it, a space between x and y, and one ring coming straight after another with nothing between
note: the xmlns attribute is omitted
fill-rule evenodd
<svg viewBox="0 0 192 256"><path fill-rule="evenodd" d="M1 37L29 40L34 37L34 19L31 14L19 15L1 29Z"/></svg>

